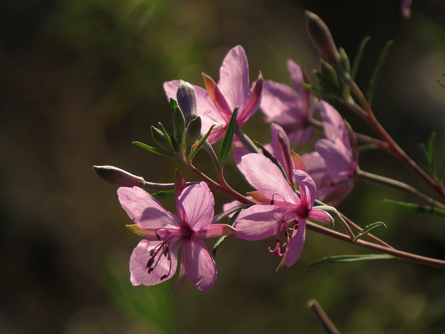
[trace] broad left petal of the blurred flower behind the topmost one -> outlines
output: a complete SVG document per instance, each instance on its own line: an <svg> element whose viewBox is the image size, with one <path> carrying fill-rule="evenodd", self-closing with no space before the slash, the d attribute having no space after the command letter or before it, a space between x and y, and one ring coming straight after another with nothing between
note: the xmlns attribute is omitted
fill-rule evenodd
<svg viewBox="0 0 445 334"><path fill-rule="evenodd" d="M268 121L295 127L306 118L300 96L289 86L265 80L262 95L261 110Z"/></svg>

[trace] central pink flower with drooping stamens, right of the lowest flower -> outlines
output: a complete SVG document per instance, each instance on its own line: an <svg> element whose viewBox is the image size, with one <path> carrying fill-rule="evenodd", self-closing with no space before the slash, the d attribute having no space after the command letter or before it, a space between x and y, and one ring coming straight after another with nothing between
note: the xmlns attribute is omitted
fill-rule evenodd
<svg viewBox="0 0 445 334"><path fill-rule="evenodd" d="M248 181L258 191L252 196L263 204L256 204L238 216L233 237L245 240L260 240L276 236L276 247L269 248L274 255L280 253L280 234L289 239L288 229L293 226L292 236L285 243L284 264L292 266L300 257L306 239L306 220L312 218L331 224L331 217L323 210L313 207L316 188L312 178L302 170L293 170L295 181L300 186L301 198L292 190L279 168L267 157L250 153L242 157ZM288 242L287 242L288 241Z"/></svg>

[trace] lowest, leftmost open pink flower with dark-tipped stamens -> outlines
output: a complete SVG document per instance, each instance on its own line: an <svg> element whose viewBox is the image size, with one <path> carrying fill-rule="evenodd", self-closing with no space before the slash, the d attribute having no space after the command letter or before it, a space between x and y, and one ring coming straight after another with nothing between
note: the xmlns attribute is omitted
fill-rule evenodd
<svg viewBox="0 0 445 334"><path fill-rule="evenodd" d="M211 225L215 201L206 183L191 185L177 193L178 216L138 187L118 189L119 201L135 223L128 227L146 237L131 256L131 282L135 286L151 286L170 279L176 272L178 249L182 246L175 290L186 277L207 292L215 283L217 268L204 242L198 238L227 236L236 230L225 224Z"/></svg>

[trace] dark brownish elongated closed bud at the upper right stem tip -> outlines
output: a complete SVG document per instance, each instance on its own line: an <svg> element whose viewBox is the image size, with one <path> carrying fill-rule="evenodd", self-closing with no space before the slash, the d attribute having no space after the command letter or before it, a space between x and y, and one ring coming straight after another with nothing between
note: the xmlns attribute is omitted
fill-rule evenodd
<svg viewBox="0 0 445 334"><path fill-rule="evenodd" d="M321 53L321 56L329 63L334 63L340 58L340 55L335 47L332 35L326 24L314 13L310 11L305 12L308 18L308 29L311 35L313 44Z"/></svg>

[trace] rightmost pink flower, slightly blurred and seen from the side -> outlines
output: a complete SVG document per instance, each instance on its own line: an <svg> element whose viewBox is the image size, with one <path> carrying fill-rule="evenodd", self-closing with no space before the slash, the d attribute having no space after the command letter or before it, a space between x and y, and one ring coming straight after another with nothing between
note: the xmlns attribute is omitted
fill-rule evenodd
<svg viewBox="0 0 445 334"><path fill-rule="evenodd" d="M317 185L317 199L338 204L354 188L357 161L353 156L343 118L325 101L320 101L324 133L327 139L315 144L316 152L303 154L308 173Z"/></svg>

